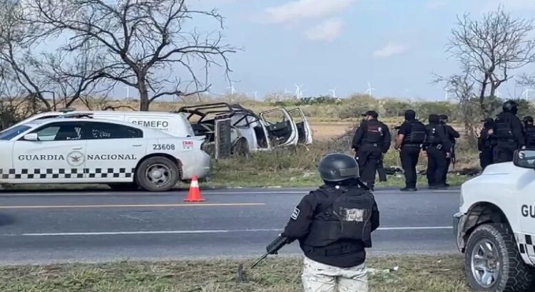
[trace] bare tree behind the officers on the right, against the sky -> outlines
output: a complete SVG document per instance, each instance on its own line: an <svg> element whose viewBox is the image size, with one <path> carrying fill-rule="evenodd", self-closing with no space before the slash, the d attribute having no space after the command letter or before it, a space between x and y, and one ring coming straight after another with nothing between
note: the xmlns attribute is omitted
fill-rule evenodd
<svg viewBox="0 0 535 292"><path fill-rule="evenodd" d="M479 21L469 14L458 16L447 51L461 63L463 78L472 84L481 114L489 115L485 98L494 98L502 83L514 78L513 71L535 61L535 43L529 40L531 21L515 19L503 7L485 14ZM459 75L443 78L459 84Z"/></svg>

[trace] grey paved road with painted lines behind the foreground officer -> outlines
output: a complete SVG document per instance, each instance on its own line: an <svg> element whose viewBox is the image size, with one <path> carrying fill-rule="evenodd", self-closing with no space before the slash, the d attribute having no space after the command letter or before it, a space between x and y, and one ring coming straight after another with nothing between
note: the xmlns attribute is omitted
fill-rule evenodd
<svg viewBox="0 0 535 292"><path fill-rule="evenodd" d="M0 264L258 256L305 189L0 192ZM456 252L452 214L459 191L375 192L381 212L369 254ZM280 254L299 253L297 243Z"/></svg>

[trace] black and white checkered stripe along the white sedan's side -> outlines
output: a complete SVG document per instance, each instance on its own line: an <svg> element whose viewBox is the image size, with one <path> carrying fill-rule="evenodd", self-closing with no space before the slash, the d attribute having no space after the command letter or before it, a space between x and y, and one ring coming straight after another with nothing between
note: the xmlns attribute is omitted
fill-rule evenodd
<svg viewBox="0 0 535 292"><path fill-rule="evenodd" d="M127 171L128 170L128 171ZM2 179L83 179L133 177L135 169L122 168L34 168L21 170L0 169Z"/></svg>

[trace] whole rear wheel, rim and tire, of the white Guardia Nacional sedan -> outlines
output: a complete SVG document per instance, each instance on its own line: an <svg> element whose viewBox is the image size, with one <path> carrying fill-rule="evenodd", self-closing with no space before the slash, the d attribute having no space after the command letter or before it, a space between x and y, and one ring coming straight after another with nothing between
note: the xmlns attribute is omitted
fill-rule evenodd
<svg viewBox="0 0 535 292"><path fill-rule="evenodd" d="M136 170L136 182L149 192L165 192L175 187L179 179L178 166L165 157L151 157Z"/></svg>

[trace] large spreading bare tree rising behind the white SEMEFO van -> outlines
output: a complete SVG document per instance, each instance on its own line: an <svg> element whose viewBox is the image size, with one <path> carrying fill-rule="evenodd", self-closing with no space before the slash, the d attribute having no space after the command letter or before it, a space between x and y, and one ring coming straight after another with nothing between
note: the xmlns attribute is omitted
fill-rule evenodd
<svg viewBox="0 0 535 292"><path fill-rule="evenodd" d="M190 26L186 21L202 16L217 20L223 28L223 17L215 10L190 9L185 0L28 2L33 16L28 23L46 26L47 33L71 36L71 50L91 42L93 49L102 52L106 66L101 76L136 88L140 110L148 110L153 100L164 95L207 91L211 66L223 66L227 77L230 72L227 55L236 49L222 43L221 33L213 37L185 28ZM198 73L197 66L203 73Z"/></svg>

